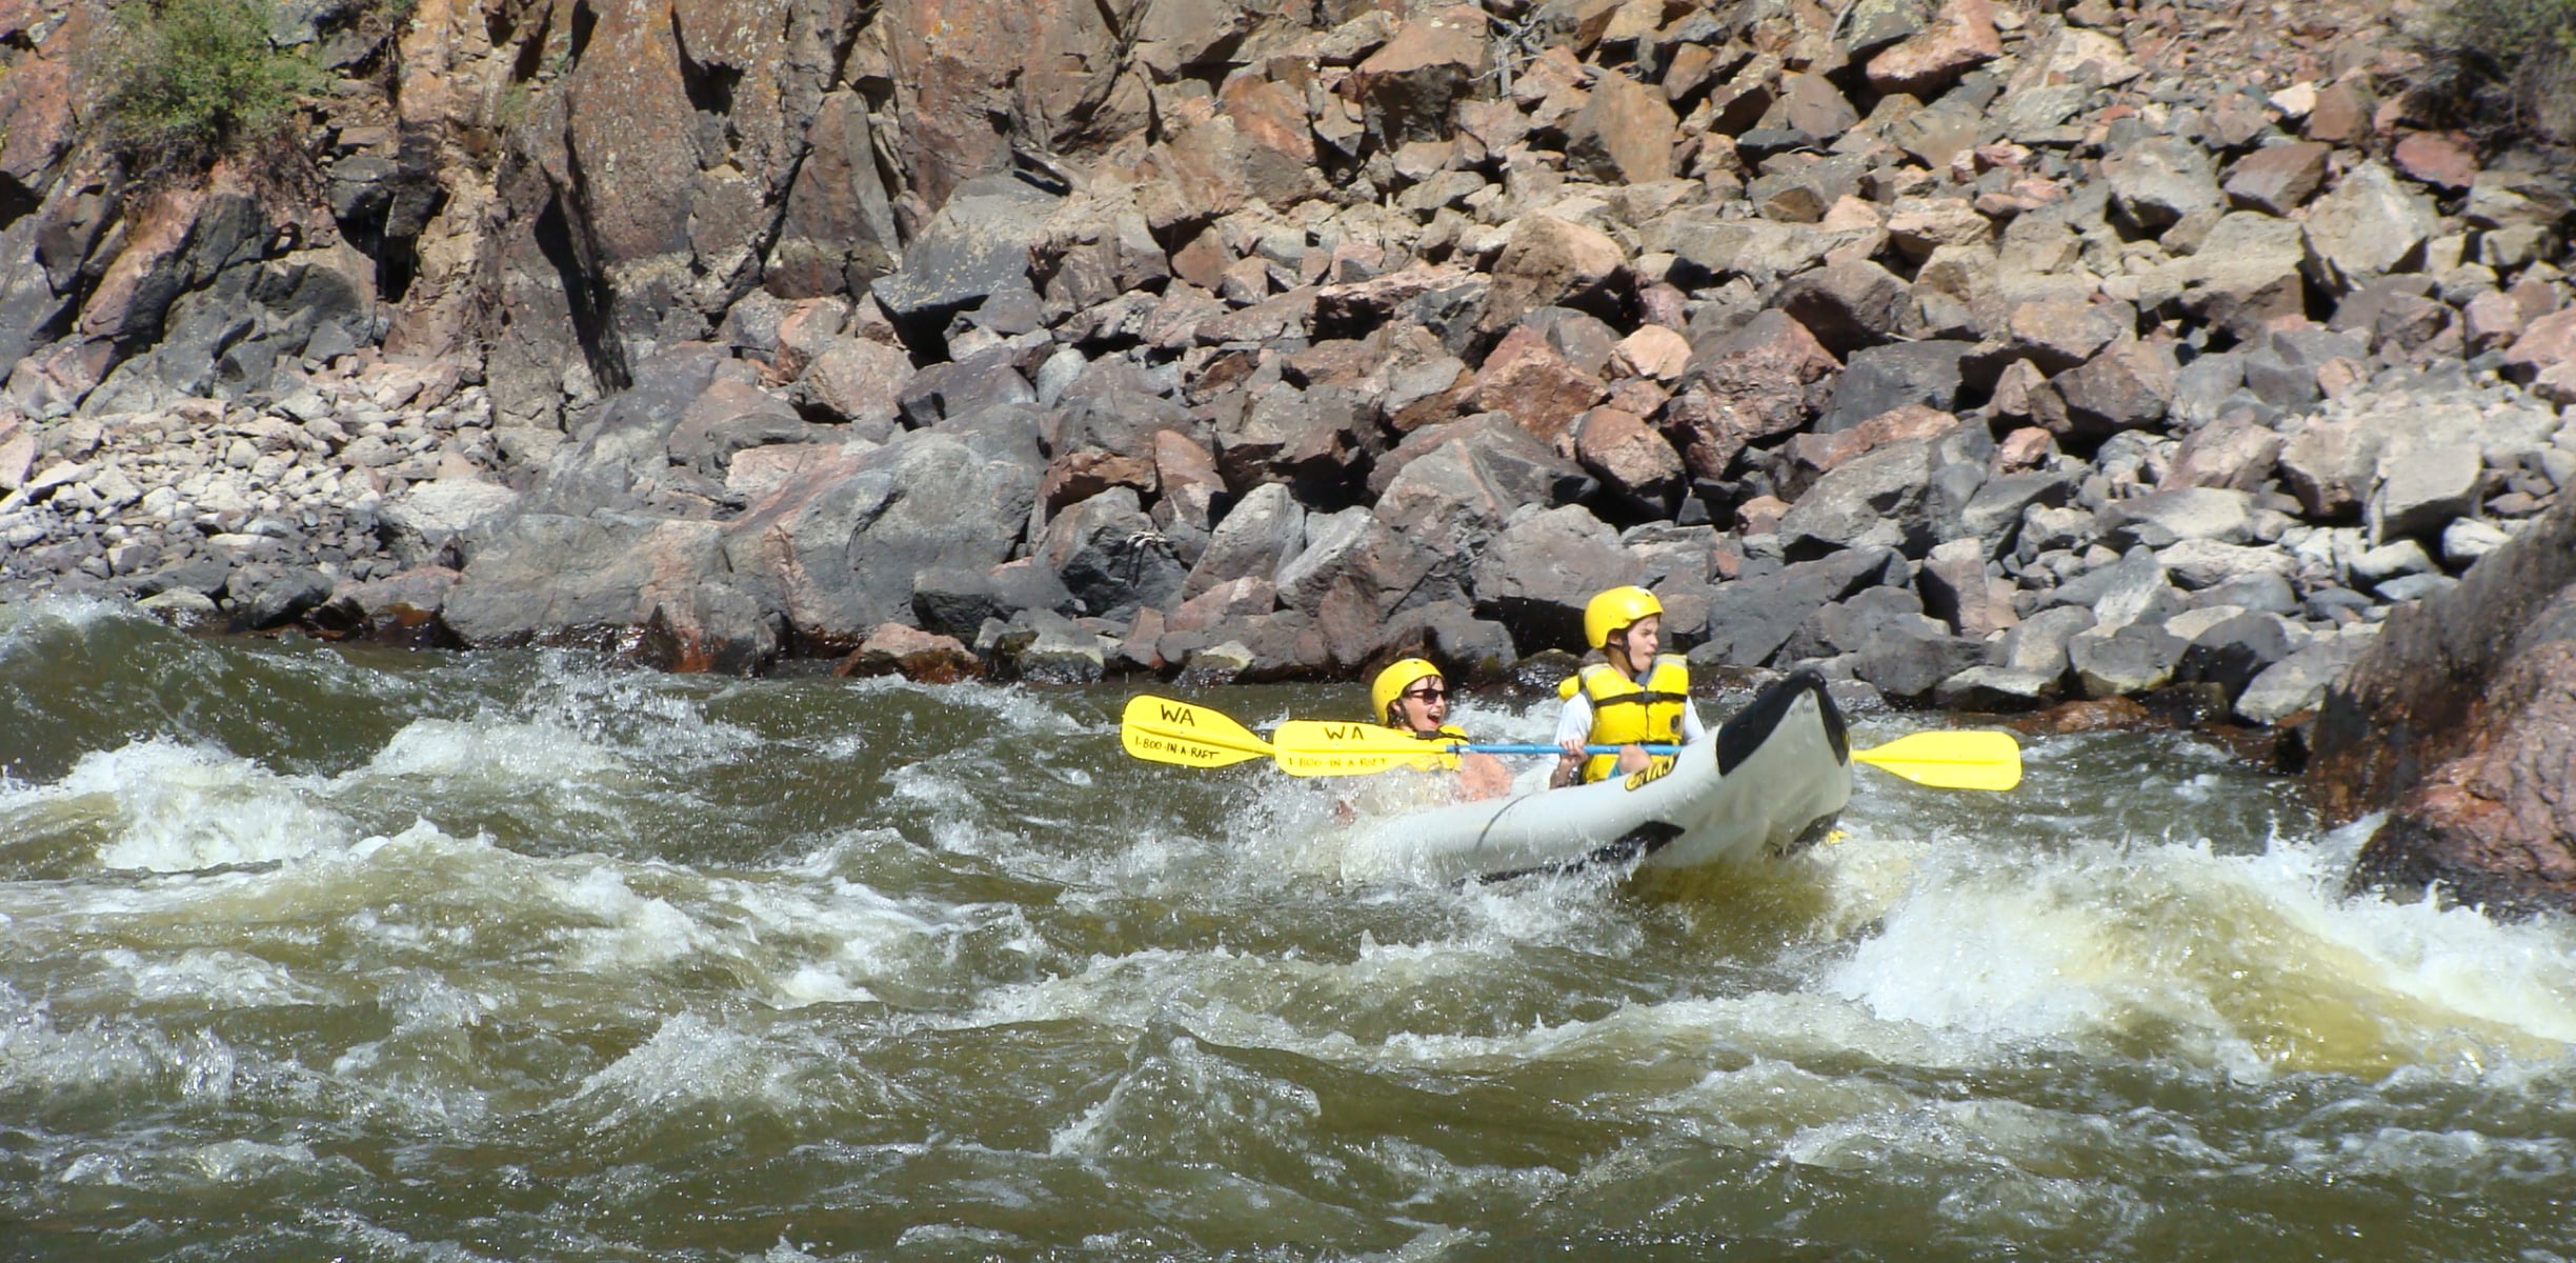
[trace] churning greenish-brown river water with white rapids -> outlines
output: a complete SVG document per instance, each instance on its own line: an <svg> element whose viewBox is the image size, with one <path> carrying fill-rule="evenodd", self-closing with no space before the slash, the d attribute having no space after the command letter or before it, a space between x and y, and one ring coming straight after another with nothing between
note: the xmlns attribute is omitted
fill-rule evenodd
<svg viewBox="0 0 2576 1263"><path fill-rule="evenodd" d="M2184 737L1425 889L1121 701L0 611L0 1258L2571 1250L2571 923Z"/></svg>

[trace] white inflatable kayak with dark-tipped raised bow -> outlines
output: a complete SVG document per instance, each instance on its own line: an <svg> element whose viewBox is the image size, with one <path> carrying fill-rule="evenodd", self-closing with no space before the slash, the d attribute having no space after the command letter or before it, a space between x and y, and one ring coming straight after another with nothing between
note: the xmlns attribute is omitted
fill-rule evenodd
<svg viewBox="0 0 2576 1263"><path fill-rule="evenodd" d="M1504 882L1589 866L1692 869L1783 856L1852 799L1852 742L1801 670L1641 773L1363 822L1342 876Z"/></svg>

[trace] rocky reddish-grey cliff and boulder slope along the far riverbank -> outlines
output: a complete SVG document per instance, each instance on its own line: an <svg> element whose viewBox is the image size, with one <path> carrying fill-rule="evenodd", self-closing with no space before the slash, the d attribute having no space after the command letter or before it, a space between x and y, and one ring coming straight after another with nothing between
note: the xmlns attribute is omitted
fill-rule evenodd
<svg viewBox="0 0 2576 1263"><path fill-rule="evenodd" d="M1649 583L1703 662L2275 722L2576 479L2566 180L2388 23L299 3L294 144L129 188L108 15L15 0L0 567L1193 680L1504 670Z"/></svg>

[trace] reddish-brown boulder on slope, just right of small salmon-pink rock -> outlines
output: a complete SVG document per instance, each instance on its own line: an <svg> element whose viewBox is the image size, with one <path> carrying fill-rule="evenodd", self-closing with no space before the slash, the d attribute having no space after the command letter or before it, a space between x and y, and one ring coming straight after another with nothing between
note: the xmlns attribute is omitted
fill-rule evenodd
<svg viewBox="0 0 2576 1263"><path fill-rule="evenodd" d="M1698 351L1667 410L1692 477L1721 479L1747 443L1814 423L1839 371L1842 361L1777 309Z"/></svg>

